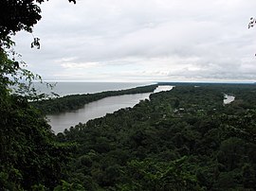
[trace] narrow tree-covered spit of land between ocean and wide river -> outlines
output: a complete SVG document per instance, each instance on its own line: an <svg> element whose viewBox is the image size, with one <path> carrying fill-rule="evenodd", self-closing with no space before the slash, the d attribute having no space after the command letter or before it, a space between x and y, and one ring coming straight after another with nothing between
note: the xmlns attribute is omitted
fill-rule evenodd
<svg viewBox="0 0 256 191"><path fill-rule="evenodd" d="M69 95L31 102L44 114L64 113L82 108L85 104L108 96L134 95L154 92L158 84L140 86L126 90L104 91L95 94Z"/></svg>

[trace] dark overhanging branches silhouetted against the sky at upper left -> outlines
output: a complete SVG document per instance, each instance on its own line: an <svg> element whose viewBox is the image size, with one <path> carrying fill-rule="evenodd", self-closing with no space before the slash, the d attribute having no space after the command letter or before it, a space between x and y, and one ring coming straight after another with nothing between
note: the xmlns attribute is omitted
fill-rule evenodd
<svg viewBox="0 0 256 191"><path fill-rule="evenodd" d="M32 74L23 66L24 61L16 61L18 55L13 48L15 43L11 40L11 36L21 30L32 32L33 26L41 20L40 5L48 0L1 0L0 1L0 89L3 92L8 89L9 85L17 85L20 92L27 91L27 84L32 79L41 77ZM76 3L75 0L68 0ZM34 38L31 47L40 47L39 38ZM29 85L28 85L29 86Z"/></svg>

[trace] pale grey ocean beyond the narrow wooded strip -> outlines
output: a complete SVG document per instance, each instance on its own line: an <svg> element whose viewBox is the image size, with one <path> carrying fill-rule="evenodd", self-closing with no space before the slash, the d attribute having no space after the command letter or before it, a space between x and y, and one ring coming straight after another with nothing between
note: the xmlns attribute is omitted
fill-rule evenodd
<svg viewBox="0 0 256 191"><path fill-rule="evenodd" d="M55 84L54 82L48 82ZM39 82L35 82L34 86L41 93L50 94L54 92L59 96L76 95L76 94L93 94L103 91L115 91L124 90L129 88L135 88L137 86L150 85L152 83L143 82L56 82L55 87L51 90L46 88L46 85L42 85Z"/></svg>

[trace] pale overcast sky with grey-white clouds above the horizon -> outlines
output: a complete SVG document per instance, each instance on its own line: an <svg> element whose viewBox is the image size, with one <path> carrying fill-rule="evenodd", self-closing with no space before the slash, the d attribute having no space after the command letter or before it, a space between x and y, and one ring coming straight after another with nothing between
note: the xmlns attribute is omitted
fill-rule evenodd
<svg viewBox="0 0 256 191"><path fill-rule="evenodd" d="M52 0L15 50L45 80L256 81L255 0ZM41 48L30 48L33 37Z"/></svg>

